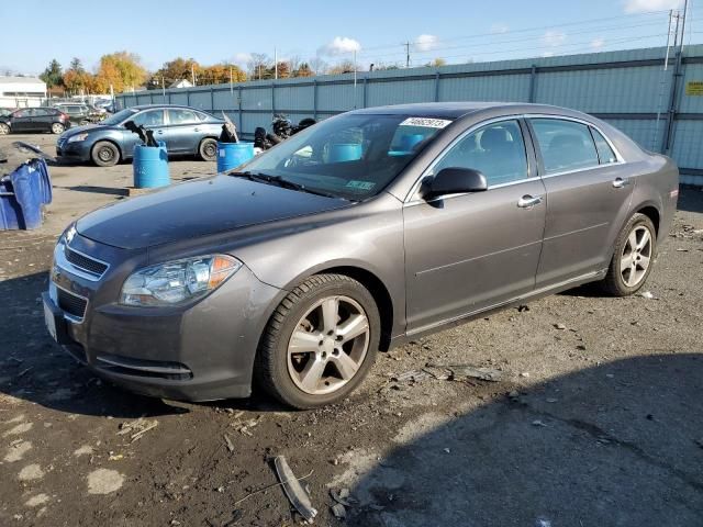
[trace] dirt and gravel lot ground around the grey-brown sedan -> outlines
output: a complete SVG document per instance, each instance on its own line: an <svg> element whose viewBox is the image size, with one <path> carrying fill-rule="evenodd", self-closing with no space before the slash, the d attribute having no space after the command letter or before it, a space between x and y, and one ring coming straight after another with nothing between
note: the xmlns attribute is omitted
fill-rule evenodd
<svg viewBox="0 0 703 527"><path fill-rule="evenodd" d="M214 170L170 167L174 179ZM281 455L316 525L703 526L699 189L681 191L651 298L591 287L504 311L381 354L343 404L291 412L260 394L132 395L52 343L40 294L55 239L124 199L132 168L51 170L42 228L0 233L0 526L294 525L270 486ZM501 378L422 371L467 363ZM346 519L331 508L342 490Z"/></svg>

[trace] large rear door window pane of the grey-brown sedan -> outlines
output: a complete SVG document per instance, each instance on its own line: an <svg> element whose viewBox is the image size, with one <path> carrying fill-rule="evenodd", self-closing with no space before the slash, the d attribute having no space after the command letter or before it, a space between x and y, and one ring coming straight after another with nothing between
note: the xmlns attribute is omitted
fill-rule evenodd
<svg viewBox="0 0 703 527"><path fill-rule="evenodd" d="M599 164L589 126L559 119L533 119L546 173L579 170Z"/></svg>

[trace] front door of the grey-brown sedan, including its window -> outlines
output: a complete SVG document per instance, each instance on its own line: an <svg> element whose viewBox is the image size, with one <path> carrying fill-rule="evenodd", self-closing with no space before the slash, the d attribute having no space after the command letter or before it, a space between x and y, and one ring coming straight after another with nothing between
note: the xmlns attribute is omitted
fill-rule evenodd
<svg viewBox="0 0 703 527"><path fill-rule="evenodd" d="M534 289L546 203L525 131L516 119L470 131L429 169L478 169L487 191L405 204L409 334Z"/></svg>

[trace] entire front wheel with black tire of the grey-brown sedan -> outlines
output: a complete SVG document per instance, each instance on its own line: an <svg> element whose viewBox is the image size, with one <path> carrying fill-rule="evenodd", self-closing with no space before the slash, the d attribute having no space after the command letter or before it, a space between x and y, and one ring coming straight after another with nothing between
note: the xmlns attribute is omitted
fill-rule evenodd
<svg viewBox="0 0 703 527"><path fill-rule="evenodd" d="M284 404L346 397L376 360L380 316L371 293L344 274L316 274L279 304L264 332L256 375Z"/></svg>

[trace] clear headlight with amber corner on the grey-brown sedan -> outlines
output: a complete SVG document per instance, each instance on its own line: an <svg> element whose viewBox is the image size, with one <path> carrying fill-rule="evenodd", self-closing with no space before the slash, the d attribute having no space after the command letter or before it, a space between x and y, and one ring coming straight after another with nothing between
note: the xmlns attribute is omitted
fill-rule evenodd
<svg viewBox="0 0 703 527"><path fill-rule="evenodd" d="M239 260L225 255L200 256L146 267L124 281L120 303L179 304L217 289L241 267Z"/></svg>

